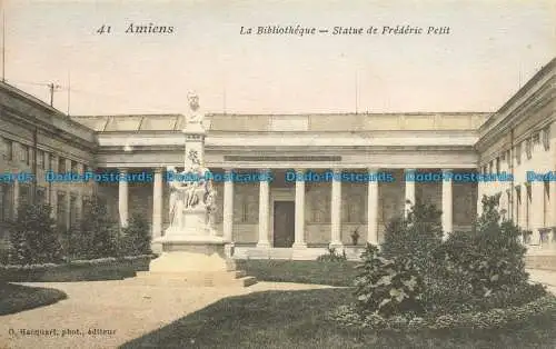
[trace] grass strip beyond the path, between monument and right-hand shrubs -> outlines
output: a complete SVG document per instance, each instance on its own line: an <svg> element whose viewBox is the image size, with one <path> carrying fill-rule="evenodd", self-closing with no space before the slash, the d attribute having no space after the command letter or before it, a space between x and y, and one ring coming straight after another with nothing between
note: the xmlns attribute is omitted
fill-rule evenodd
<svg viewBox="0 0 556 349"><path fill-rule="evenodd" d="M357 262L251 259L237 260L237 265L259 281L353 286Z"/></svg>

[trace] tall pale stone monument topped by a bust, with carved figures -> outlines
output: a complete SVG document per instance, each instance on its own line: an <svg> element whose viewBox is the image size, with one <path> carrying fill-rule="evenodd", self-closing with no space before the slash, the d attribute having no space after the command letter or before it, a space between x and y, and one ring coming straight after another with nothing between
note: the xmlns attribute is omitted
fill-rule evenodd
<svg viewBox="0 0 556 349"><path fill-rule="evenodd" d="M198 112L198 106L193 107L195 101L191 108ZM226 250L230 241L217 236L212 226L217 193L206 177L202 122L187 122L183 133L182 174L195 176L186 176L183 182L170 182L171 223L162 237L153 240L162 253L150 262L149 272L139 273L138 279L185 287L254 285L255 278L236 269L230 251Z"/></svg>

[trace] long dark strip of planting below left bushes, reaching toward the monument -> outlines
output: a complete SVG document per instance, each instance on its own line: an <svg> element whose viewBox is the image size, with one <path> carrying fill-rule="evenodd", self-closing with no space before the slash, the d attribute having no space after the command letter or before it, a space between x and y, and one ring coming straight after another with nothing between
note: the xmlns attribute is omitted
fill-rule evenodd
<svg viewBox="0 0 556 349"><path fill-rule="evenodd" d="M12 282L63 282L121 280L135 277L137 271L149 270L153 255L68 260L66 263L0 266L0 279Z"/></svg>

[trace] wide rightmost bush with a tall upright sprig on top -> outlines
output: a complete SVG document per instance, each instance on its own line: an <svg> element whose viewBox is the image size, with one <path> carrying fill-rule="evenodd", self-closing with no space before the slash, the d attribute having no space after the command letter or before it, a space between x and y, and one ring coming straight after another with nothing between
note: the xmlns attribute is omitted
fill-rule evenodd
<svg viewBox="0 0 556 349"><path fill-rule="evenodd" d="M444 265L443 277L455 275L469 282L476 295L489 296L505 287L527 282L526 249L522 231L512 221L502 221L497 211L499 195L483 198L483 215L471 232L456 232L437 252Z"/></svg>

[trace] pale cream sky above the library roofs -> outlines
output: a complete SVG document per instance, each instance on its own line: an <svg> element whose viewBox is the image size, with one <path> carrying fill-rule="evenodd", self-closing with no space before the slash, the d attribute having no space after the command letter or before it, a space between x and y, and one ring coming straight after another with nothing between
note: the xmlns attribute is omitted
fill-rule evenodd
<svg viewBox="0 0 556 349"><path fill-rule="evenodd" d="M70 114L185 113L189 91L205 112L495 111L556 56L554 0L0 1L6 81L58 84ZM126 33L149 23L173 32ZM240 33L297 24L317 33Z"/></svg>

